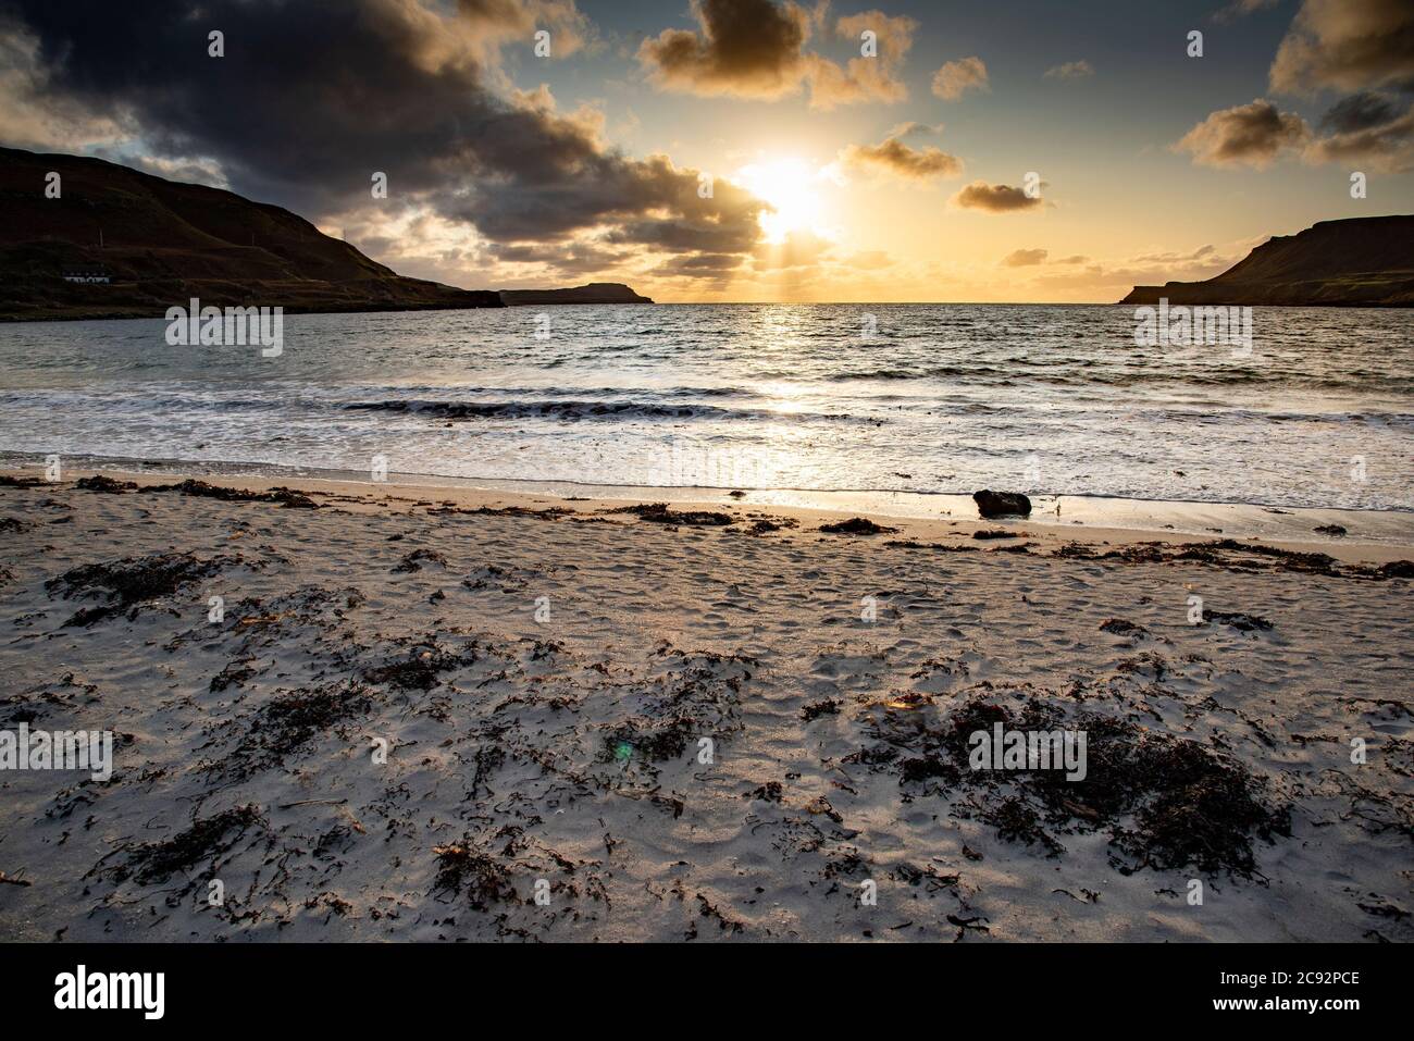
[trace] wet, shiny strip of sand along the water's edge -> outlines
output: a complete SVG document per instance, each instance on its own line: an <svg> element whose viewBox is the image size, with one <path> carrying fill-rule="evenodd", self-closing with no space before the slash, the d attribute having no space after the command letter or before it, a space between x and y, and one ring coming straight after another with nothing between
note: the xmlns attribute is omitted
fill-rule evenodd
<svg viewBox="0 0 1414 1041"><path fill-rule="evenodd" d="M161 479L202 479L245 491L287 487L335 495L389 498L419 492L437 495L458 508L574 508L585 512L666 502L673 508L721 509L747 519L769 511L799 522L865 516L896 528L901 539L970 539L978 529L1007 529L1046 547L1080 545L1130 545L1138 542L1193 543L1237 539L1301 553L1326 553L1342 563L1383 564L1414 556L1414 512L1372 509L1277 508L1253 504L1178 502L1113 496L1032 495L1029 518L981 519L969 495L947 492L824 492L803 489L748 489L740 496L721 488L609 487L563 481L512 481L454 478L390 472L372 481L351 471L315 471L249 464L197 464L181 461L95 465L92 457L75 457L82 465L65 465L64 482L103 475L139 485ZM42 463L28 467L0 463L0 474L42 475ZM62 484L62 482L61 482ZM1059 506L1059 518L1055 509ZM1314 529L1338 525L1345 536ZM816 523L814 526L819 526Z"/></svg>

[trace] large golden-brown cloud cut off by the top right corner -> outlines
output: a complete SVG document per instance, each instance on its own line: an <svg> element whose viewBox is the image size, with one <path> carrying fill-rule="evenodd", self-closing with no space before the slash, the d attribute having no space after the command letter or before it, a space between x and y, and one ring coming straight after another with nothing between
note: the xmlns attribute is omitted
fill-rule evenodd
<svg viewBox="0 0 1414 1041"><path fill-rule="evenodd" d="M1305 0L1268 72L1277 93L1414 91L1414 4Z"/></svg>

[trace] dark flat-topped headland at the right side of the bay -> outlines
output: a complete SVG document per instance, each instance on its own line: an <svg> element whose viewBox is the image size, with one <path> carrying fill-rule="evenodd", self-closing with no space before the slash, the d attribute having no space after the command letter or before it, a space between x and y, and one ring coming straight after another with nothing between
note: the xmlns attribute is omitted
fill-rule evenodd
<svg viewBox="0 0 1414 1041"><path fill-rule="evenodd" d="M1208 281L1135 286L1123 304L1414 307L1414 216L1322 221Z"/></svg>

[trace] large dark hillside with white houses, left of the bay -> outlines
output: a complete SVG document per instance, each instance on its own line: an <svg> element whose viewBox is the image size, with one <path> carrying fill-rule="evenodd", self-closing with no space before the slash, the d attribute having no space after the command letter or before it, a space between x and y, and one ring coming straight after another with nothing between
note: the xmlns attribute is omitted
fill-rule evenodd
<svg viewBox="0 0 1414 1041"><path fill-rule="evenodd" d="M493 291L404 279L280 207L0 149L0 320L161 317L191 297L291 313L503 307Z"/></svg>

